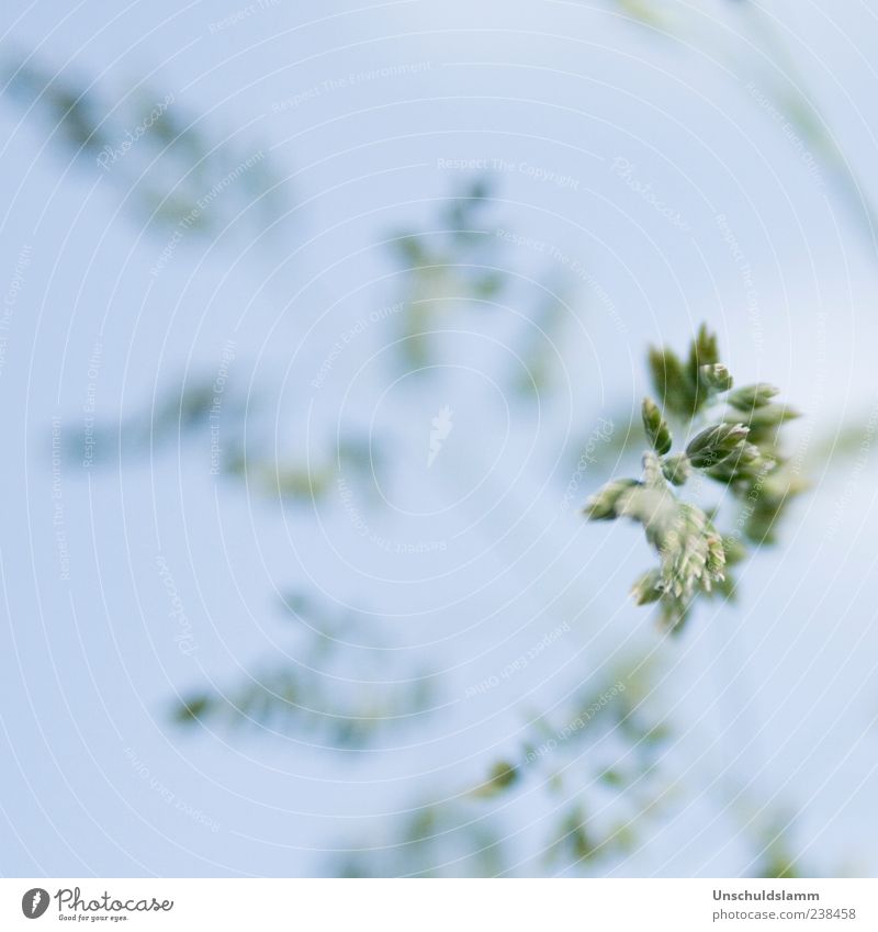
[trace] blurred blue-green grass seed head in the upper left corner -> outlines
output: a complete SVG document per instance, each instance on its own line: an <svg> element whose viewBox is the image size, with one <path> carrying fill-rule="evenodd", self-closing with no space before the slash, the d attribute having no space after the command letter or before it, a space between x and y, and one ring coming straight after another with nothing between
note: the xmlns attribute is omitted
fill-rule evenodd
<svg viewBox="0 0 878 932"><path fill-rule="evenodd" d="M251 133L218 132L172 92L140 83L111 100L97 81L52 74L24 55L1 60L0 79L68 157L115 188L140 225L216 236L240 212L252 232L284 211L279 177Z"/></svg>

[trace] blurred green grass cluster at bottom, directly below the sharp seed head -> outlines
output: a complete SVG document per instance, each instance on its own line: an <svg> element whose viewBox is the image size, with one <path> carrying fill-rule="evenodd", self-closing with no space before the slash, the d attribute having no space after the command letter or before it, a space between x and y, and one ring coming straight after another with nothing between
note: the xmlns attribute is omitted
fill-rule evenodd
<svg viewBox="0 0 878 932"><path fill-rule="evenodd" d="M645 840L651 820L675 799L661 759L668 727L644 701L653 670L640 665L583 689L569 716L536 717L517 751L491 765L485 779L416 816L386 838L348 853L345 876L498 876L533 873L514 865L504 842L519 811L544 811L542 869L589 874L623 858Z"/></svg>

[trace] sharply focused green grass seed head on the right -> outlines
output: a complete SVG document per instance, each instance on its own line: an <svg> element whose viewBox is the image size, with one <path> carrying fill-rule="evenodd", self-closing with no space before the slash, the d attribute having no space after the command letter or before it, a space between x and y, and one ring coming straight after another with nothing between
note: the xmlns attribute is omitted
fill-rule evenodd
<svg viewBox="0 0 878 932"><path fill-rule="evenodd" d="M774 541L789 499L806 483L778 449L779 428L798 415L774 402L778 390L757 383L732 391L718 359L716 335L701 326L686 360L666 348L650 350L657 404L644 398L643 428L651 449L641 479L617 479L586 503L589 520L628 517L640 524L658 553L632 589L638 605L657 603L662 620L679 630L699 596L734 594L728 568L747 555L743 540ZM672 422L687 442L672 453ZM694 474L718 483L738 503L734 528L721 535L710 515L675 493Z"/></svg>

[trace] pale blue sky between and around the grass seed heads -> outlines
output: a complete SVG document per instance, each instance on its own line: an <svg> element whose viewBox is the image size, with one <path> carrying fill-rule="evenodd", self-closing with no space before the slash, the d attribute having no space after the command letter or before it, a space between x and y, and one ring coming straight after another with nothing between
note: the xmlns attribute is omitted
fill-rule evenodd
<svg viewBox="0 0 878 932"><path fill-rule="evenodd" d="M244 157L268 153L293 210L258 238L245 221L216 243L187 236L154 277L167 233L120 210L112 179L47 141L44 120L0 106L3 294L31 249L0 372L0 872L325 873L326 850L381 840L382 813L480 779L534 708L656 643L646 611L627 602L645 559L634 529L587 527L559 507L577 443L601 416L639 403L649 341L679 345L708 319L741 381L776 382L808 413L793 431L803 456L840 420L869 417L875 247L830 170L809 171L747 90L769 87L772 71L733 9L745 5L654 4L683 36L672 40L611 2L279 0L228 26L217 24L246 4L7 3L4 61L34 52L49 71L97 79L110 100L148 75L156 100L172 91L172 106L203 114L217 137L240 131ZM765 7L878 198L874 11L853 0ZM614 172L620 158L685 229ZM489 226L555 244L616 308L614 318L567 277L561 388L539 416L515 408L499 381L507 350L485 337L530 313L528 277L563 280L563 262L526 246L498 254L525 281L493 323L461 312L459 370L414 388L394 381L378 363L395 333L376 324L323 388L309 386L345 329L398 300L381 242L434 223L439 199L471 177L440 159L511 164L488 172ZM575 183L537 180L522 165ZM718 214L751 267L752 313ZM52 418L81 425L95 343L98 414L115 418L184 372L213 377L228 339L229 391L269 398L248 429L279 454L317 460L331 456L339 425L392 438L390 507L372 520L394 539L451 546L404 560L364 547L338 502L323 524L307 508L279 510L211 476L199 435L122 472L64 461L70 579L59 579ZM430 418L446 404L453 433L428 471ZM581 497L612 463L600 469ZM655 703L677 726L682 802L616 873L745 869L751 855L711 790L723 772L799 813L793 838L812 869L878 868L874 476L874 457L818 470L781 546L747 566L740 606L698 613L664 648L669 675ZM158 553L193 626L191 655L173 639ZM277 592L307 585L365 613L367 630L397 649L389 675L442 672L440 708L393 748L352 757L290 736L169 726L176 690L227 683L279 650L294 655ZM464 698L559 620L571 631L539 663ZM126 749L218 829L169 805ZM539 869L528 858L551 805L534 790L508 815L509 832L522 829L510 840L519 873Z"/></svg>

